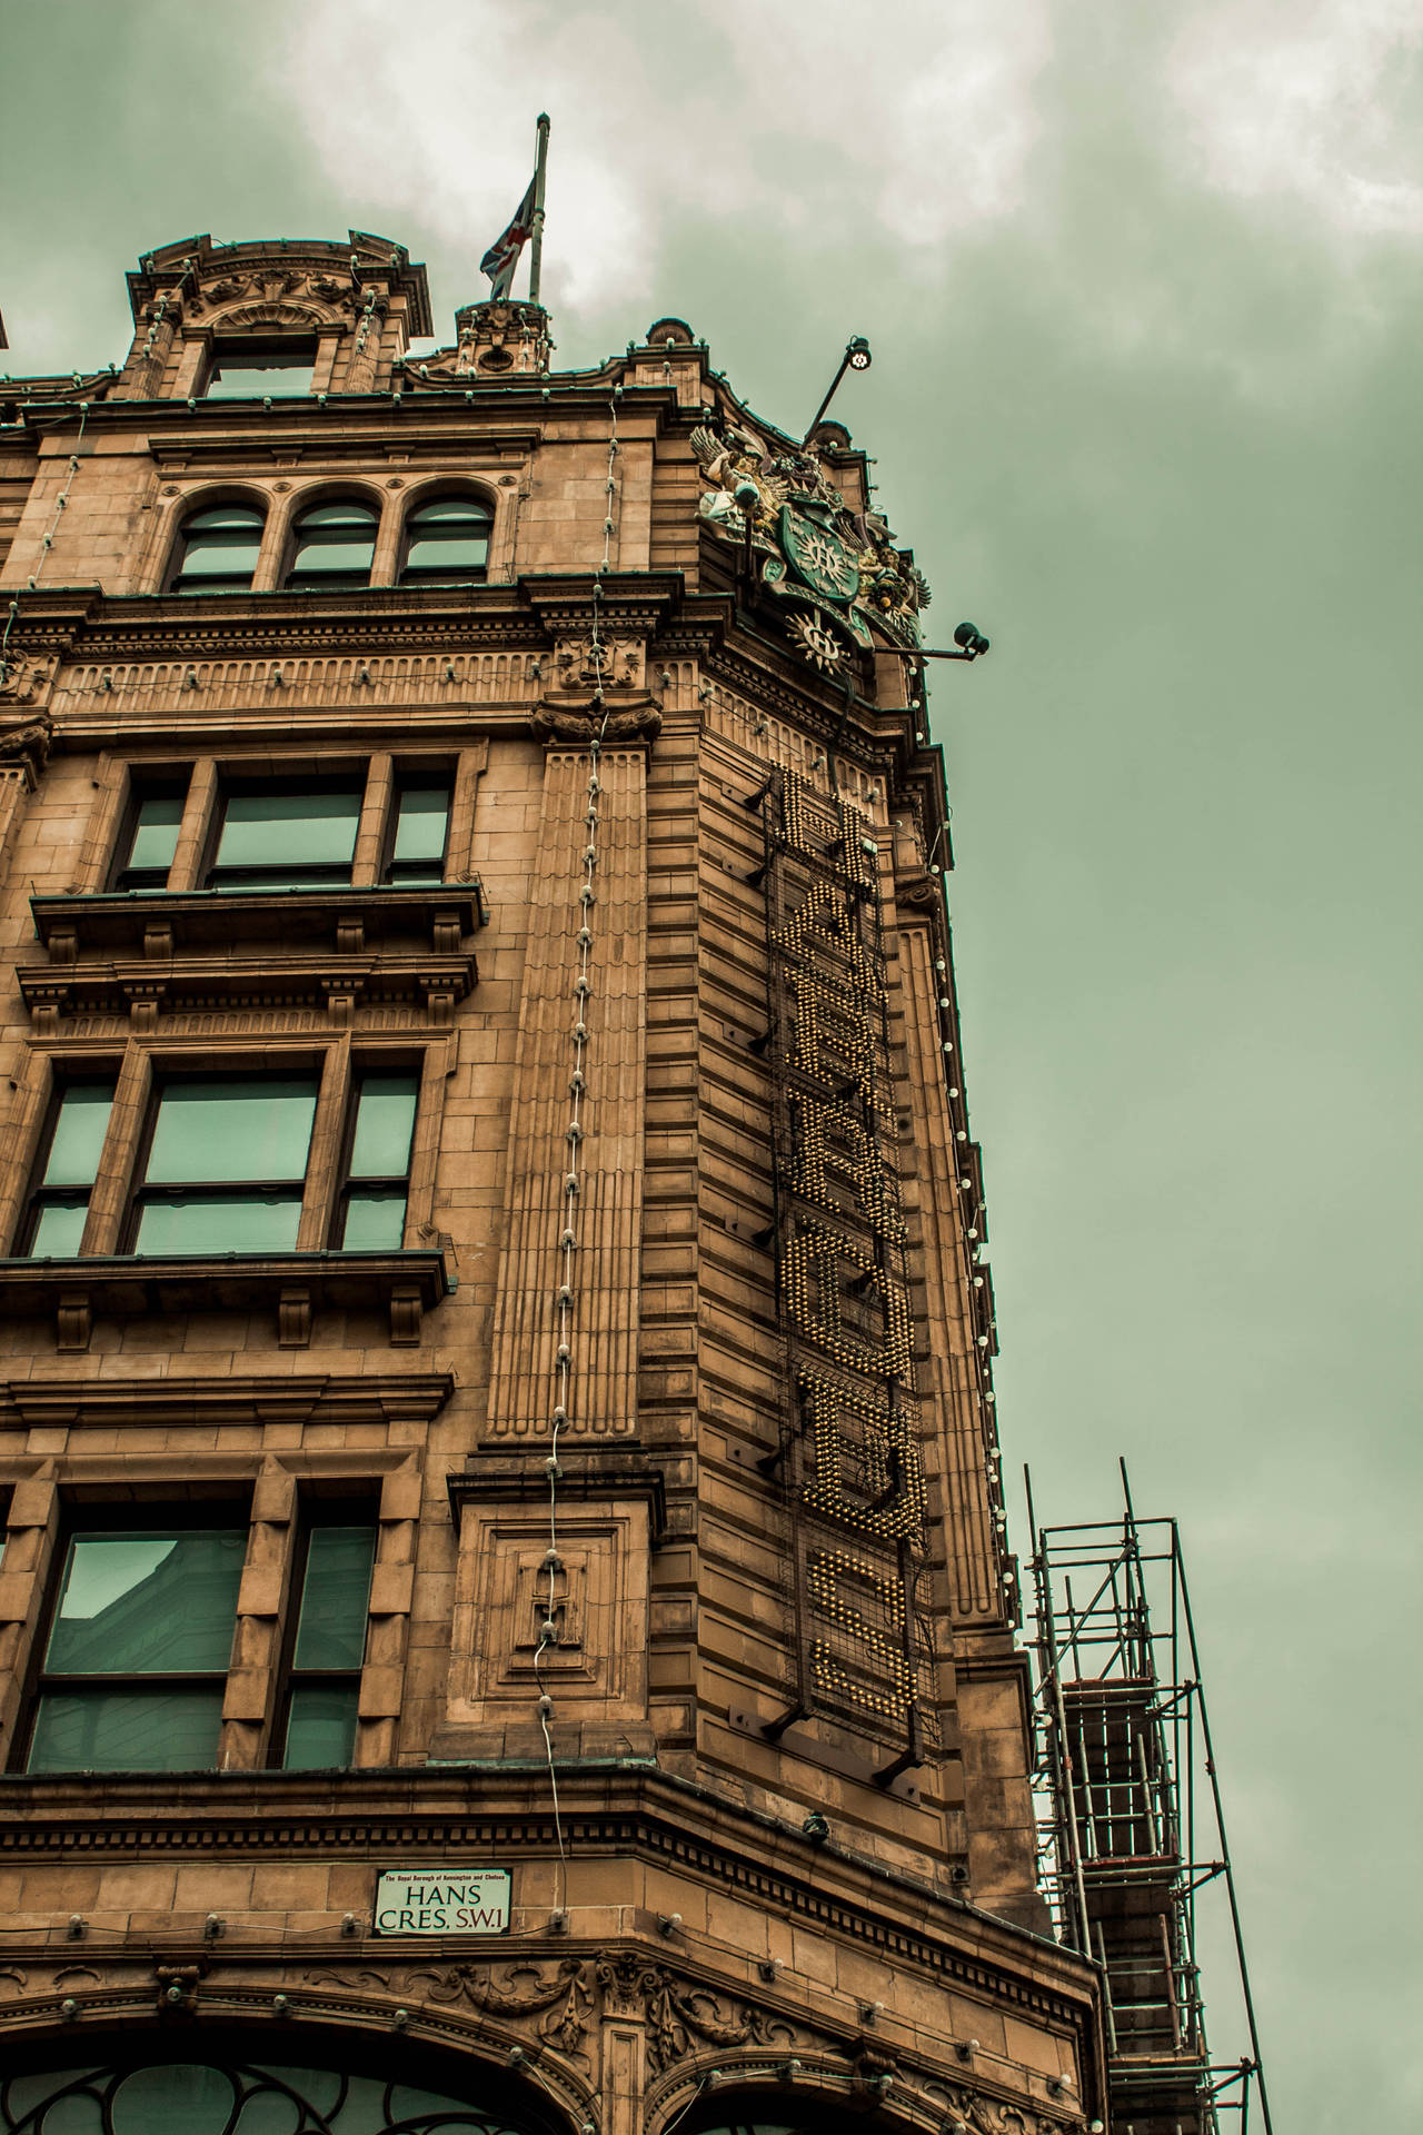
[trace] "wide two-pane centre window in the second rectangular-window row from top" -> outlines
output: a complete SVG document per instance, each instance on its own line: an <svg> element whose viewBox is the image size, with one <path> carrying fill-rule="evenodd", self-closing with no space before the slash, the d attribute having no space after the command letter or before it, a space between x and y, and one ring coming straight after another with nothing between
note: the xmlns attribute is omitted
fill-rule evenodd
<svg viewBox="0 0 1423 2135"><path fill-rule="evenodd" d="M190 1076L160 1087L132 1253L290 1253L318 1076Z"/></svg>

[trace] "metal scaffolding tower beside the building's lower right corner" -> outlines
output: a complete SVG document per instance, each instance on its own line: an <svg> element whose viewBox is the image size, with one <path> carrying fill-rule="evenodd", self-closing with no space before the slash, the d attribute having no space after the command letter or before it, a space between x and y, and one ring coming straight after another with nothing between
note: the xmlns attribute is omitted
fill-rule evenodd
<svg viewBox="0 0 1423 2135"><path fill-rule="evenodd" d="M1269 2131L1235 1879L1176 1520L1037 1527L1041 1872L1062 1943L1103 1977L1112 2135ZM1024 1471L1026 1475L1026 1471ZM1250 2052L1212 2060L1197 1968L1225 1898Z"/></svg>

